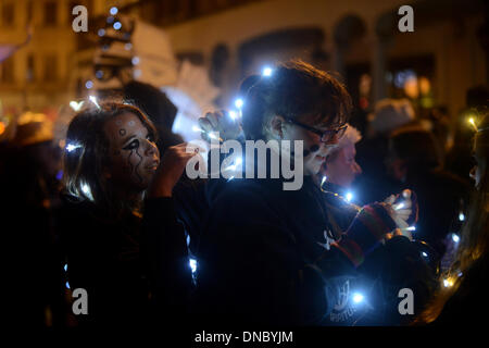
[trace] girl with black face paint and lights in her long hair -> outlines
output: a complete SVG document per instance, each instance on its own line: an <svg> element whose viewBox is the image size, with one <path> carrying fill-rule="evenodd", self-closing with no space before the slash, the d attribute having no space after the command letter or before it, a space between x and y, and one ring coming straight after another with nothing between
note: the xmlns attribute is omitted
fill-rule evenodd
<svg viewBox="0 0 489 348"><path fill-rule="evenodd" d="M198 149L177 145L161 159L155 141L152 123L128 104L87 109L70 123L62 231L70 286L88 295L80 324L141 324L151 304L176 321L185 313L191 274L172 189Z"/></svg>

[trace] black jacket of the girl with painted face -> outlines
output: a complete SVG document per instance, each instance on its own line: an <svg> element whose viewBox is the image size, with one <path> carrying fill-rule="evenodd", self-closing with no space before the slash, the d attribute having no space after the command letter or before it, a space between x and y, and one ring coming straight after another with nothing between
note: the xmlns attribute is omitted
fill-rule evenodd
<svg viewBox="0 0 489 348"><path fill-rule="evenodd" d="M62 226L70 287L88 293L80 325L142 325L186 312L191 274L171 198L148 199L142 221L109 221L91 202L72 200Z"/></svg>

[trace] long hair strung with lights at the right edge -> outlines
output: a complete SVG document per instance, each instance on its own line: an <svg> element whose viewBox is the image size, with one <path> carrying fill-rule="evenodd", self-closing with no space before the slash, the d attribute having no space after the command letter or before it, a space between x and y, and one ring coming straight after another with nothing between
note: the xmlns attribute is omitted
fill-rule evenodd
<svg viewBox="0 0 489 348"><path fill-rule="evenodd" d="M478 190L475 190L471 199L468 219L462 228L457 253L447 277L453 282L449 288L441 289L427 306L425 311L416 320L416 323L429 323L438 318L447 301L456 293L464 282L471 268L478 261L485 262L489 258L489 116L478 124L479 132L474 138L474 150L479 158L482 167ZM485 129L485 130L481 130ZM459 276L462 274L462 276Z"/></svg>

